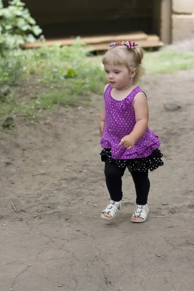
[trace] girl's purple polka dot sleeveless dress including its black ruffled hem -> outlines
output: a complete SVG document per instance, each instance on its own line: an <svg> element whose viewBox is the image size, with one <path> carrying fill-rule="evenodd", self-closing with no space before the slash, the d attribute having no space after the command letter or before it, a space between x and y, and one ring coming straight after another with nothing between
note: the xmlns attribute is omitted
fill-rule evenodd
<svg viewBox="0 0 194 291"><path fill-rule="evenodd" d="M136 124L132 102L137 93L143 92L137 86L123 100L115 100L111 96L112 87L108 85L104 93L105 129L100 141L104 148L101 160L109 159L118 167L128 167L129 171L154 171L163 165L162 153L158 149L161 142L158 136L149 128L131 149L118 146L121 139L129 135Z"/></svg>

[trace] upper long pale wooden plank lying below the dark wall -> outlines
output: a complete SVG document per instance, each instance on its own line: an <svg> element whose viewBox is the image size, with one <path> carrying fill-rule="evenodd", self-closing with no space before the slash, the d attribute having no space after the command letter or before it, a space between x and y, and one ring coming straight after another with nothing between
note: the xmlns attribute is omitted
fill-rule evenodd
<svg viewBox="0 0 194 291"><path fill-rule="evenodd" d="M81 41L86 44L97 44L103 42L115 42L115 41L127 41L132 39L133 41L146 40L147 34L145 32L131 32L129 34L117 34L117 35L102 35L102 36L90 36L90 37L81 37ZM54 46L60 44L62 46L72 45L75 41L75 38L58 38L47 40L44 45ZM26 43L21 45L22 49L33 49L41 47L41 43Z"/></svg>

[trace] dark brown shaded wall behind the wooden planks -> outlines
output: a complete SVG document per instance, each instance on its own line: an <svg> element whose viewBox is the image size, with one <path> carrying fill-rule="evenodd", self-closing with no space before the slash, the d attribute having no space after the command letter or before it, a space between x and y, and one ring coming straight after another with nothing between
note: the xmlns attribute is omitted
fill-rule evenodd
<svg viewBox="0 0 194 291"><path fill-rule="evenodd" d="M24 0L46 37L154 32L153 1Z"/></svg>

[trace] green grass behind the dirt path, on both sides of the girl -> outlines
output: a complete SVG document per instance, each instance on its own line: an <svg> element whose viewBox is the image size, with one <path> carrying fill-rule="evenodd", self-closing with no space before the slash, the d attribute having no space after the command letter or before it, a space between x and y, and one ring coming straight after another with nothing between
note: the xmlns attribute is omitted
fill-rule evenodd
<svg viewBox="0 0 194 291"><path fill-rule="evenodd" d="M71 47L15 50L0 58L0 88L10 88L7 96L0 94L0 121L21 114L34 124L44 110L86 106L91 92L103 94L101 56L89 55L77 42ZM194 52L146 52L144 65L150 75L172 74L194 68Z"/></svg>

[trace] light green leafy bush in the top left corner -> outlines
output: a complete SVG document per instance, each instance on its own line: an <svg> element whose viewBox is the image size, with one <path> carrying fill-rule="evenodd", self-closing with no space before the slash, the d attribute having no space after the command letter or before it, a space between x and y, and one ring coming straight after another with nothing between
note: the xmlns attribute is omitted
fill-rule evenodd
<svg viewBox="0 0 194 291"><path fill-rule="evenodd" d="M25 3L21 0L11 0L8 7L3 7L0 0L0 54L5 49L17 48L19 44L34 42L35 36L41 34L41 28L31 17Z"/></svg>

